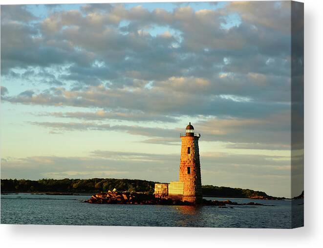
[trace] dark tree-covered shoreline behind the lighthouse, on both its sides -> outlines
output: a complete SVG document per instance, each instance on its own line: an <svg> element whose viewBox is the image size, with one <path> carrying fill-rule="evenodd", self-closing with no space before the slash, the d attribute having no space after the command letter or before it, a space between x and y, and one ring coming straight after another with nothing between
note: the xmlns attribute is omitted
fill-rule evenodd
<svg viewBox="0 0 323 248"><path fill-rule="evenodd" d="M49 193L99 193L116 188L118 191L153 193L154 181L131 179L1 179L1 193L49 192ZM204 197L240 197L255 199L281 199L268 196L265 192L251 189L203 185Z"/></svg>

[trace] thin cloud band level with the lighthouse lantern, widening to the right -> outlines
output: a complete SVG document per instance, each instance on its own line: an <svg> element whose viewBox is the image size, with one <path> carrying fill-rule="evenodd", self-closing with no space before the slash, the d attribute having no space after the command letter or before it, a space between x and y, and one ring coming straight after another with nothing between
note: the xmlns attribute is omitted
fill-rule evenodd
<svg viewBox="0 0 323 248"><path fill-rule="evenodd" d="M77 117L74 115L74 117ZM92 114L90 114L92 115ZM60 116L60 115L59 115ZM81 115L81 118L83 116ZM66 131L118 131L148 137L144 143L178 144L178 134L183 127L160 128L140 125L110 125L102 122L31 122L33 125ZM229 142L227 148L289 150L291 148L290 115L282 112L262 118L208 118L194 123L201 140Z"/></svg>

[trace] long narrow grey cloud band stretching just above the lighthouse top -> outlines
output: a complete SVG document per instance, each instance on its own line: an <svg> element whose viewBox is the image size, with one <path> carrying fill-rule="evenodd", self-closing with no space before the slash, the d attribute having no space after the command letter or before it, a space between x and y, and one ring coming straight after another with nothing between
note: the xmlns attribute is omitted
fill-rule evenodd
<svg viewBox="0 0 323 248"><path fill-rule="evenodd" d="M204 91L203 89L197 92ZM82 88L80 90L66 90L65 88L51 88L29 97L25 95L8 96L6 101L11 103L44 105L44 106L74 106L96 107L117 111L143 112L150 114L178 117L180 115L219 115L251 117L273 114L290 109L288 102L260 101L237 102L223 95L192 92L181 92L165 87L137 88L137 89L109 89L103 85ZM286 91L287 93L287 91ZM262 94L262 93L261 93ZM265 93L263 93L265 95ZM279 93L276 96L278 97ZM239 96L237 96L238 98ZM268 96L267 96L268 97ZM194 104L193 104L194 103Z"/></svg>

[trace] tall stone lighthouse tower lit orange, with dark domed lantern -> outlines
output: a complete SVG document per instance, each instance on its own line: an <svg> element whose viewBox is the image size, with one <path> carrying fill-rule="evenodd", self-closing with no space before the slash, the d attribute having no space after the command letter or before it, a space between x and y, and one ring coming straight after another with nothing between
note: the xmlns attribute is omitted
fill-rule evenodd
<svg viewBox="0 0 323 248"><path fill-rule="evenodd" d="M186 133L181 133L181 162L179 166L179 181L184 182L183 201L191 203L202 202L201 167L198 151L198 139L201 135L194 133L190 124Z"/></svg>

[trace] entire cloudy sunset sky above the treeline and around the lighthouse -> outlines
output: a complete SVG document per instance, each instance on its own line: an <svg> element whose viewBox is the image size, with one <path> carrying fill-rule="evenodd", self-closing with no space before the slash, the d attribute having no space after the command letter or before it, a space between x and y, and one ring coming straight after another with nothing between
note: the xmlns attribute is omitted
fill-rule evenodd
<svg viewBox="0 0 323 248"><path fill-rule="evenodd" d="M290 11L2 5L1 179L178 180L192 122L203 185L290 197Z"/></svg>

